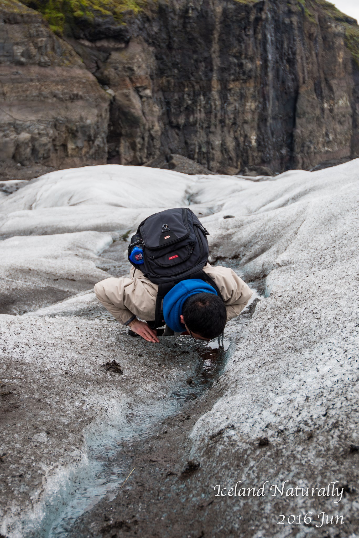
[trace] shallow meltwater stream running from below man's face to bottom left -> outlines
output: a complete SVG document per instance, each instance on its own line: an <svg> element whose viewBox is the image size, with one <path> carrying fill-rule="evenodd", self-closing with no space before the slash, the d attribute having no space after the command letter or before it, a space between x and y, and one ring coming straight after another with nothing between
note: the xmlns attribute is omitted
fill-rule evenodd
<svg viewBox="0 0 359 538"><path fill-rule="evenodd" d="M171 337L170 337L171 338ZM198 398L219 376L235 344L224 341L219 347L216 341L197 343L193 351L198 355L198 364L191 378L183 387L175 389L171 398L161 400L148 407L132 409L131 424L112 422L104 427L93 424L87 433L87 455L81 466L72 475L67 474L56 484L55 493L47 494L47 500L38 514L37 521L28 522L26 538L66 538L69 530L81 514L91 509L105 495L114 495L128 477L131 469L117 466L115 456L122 444L151 433L154 424L178 411L188 400ZM181 353L189 353L180 346ZM59 480L58 480L59 482ZM112 492L112 493L111 493Z"/></svg>

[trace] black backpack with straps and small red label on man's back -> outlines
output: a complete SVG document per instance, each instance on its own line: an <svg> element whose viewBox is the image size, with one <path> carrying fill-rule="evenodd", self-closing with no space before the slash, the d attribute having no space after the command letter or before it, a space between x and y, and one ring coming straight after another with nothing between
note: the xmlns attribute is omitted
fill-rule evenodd
<svg viewBox="0 0 359 538"><path fill-rule="evenodd" d="M187 207L166 209L140 223L131 238L128 255L134 246L143 249L144 263L136 265L146 278L158 284L154 321L147 322L152 329L165 324L162 301L166 293L181 280L198 278L213 286L221 297L212 278L203 270L208 259L208 231Z"/></svg>

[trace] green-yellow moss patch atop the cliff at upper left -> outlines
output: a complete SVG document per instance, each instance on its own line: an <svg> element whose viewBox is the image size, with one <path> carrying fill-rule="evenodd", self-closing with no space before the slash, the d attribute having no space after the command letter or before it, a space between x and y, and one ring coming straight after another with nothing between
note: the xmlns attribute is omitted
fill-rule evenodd
<svg viewBox="0 0 359 538"><path fill-rule="evenodd" d="M137 15L146 0L22 0L22 2L42 13L51 30L62 36L65 25L92 24L95 17L113 17L123 24L125 12Z"/></svg>

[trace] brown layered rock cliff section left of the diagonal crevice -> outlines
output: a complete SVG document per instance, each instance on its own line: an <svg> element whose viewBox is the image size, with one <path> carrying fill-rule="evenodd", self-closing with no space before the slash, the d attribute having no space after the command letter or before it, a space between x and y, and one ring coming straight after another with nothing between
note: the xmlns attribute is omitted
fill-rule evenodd
<svg viewBox="0 0 359 538"><path fill-rule="evenodd" d="M110 98L80 56L16 1L0 6L0 36L2 175L106 162Z"/></svg>

